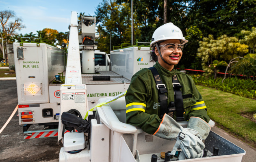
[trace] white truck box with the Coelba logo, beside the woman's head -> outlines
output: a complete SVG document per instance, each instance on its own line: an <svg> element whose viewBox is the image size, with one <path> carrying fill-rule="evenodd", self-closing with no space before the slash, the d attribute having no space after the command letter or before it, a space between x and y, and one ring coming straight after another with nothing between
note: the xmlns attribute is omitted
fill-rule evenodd
<svg viewBox="0 0 256 162"><path fill-rule="evenodd" d="M111 70L127 79L143 68L152 67L155 62L150 56L150 47L130 47L111 51Z"/></svg>

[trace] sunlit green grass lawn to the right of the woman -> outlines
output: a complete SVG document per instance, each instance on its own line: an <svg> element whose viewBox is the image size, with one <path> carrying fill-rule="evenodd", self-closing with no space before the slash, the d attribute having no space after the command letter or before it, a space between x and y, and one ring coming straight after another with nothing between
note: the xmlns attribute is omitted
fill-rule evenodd
<svg viewBox="0 0 256 162"><path fill-rule="evenodd" d="M201 85L196 87L215 125L256 148L256 120L241 116L242 112L256 112L256 100Z"/></svg>

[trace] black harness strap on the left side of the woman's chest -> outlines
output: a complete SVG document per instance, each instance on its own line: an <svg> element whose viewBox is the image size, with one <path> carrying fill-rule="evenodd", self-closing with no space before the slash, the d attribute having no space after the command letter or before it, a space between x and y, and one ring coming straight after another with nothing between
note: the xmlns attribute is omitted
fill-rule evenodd
<svg viewBox="0 0 256 162"><path fill-rule="evenodd" d="M167 89L165 87L165 84L163 84L160 75L158 73L158 71L156 70L155 67L151 67L149 68L154 76L154 79L156 81L156 88L158 89L158 101L160 102L160 106L161 106L161 115L160 115L160 119L163 118L163 115L168 114L167 111L167 96L165 95L165 93L167 92Z"/></svg>

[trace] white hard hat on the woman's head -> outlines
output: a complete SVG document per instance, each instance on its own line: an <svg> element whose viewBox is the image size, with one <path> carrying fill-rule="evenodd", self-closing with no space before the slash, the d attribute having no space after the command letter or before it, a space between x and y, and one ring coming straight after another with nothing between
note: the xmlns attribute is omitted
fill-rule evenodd
<svg viewBox="0 0 256 162"><path fill-rule="evenodd" d="M161 40L168 40L168 39L179 39L183 40L182 45L188 42L183 37L182 31L180 28L175 26L173 23L166 23L160 27L158 27L152 36L152 42L150 43L150 47L153 47L153 45L156 42L159 42Z"/></svg>

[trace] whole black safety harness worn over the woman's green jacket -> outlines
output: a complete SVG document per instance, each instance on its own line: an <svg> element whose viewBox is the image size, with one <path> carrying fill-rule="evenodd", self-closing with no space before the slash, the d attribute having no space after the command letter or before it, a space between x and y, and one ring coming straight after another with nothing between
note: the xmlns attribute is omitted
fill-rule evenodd
<svg viewBox="0 0 256 162"><path fill-rule="evenodd" d="M180 88L183 86L180 85L176 74L174 74L174 77L172 77L172 85L174 87L174 102L171 101L169 105L167 105L168 98L165 93L168 91L165 87L165 84L162 82L161 77L155 67L151 67L149 69L151 70L154 76L154 80L156 81L156 88L158 90L158 96L159 96L158 101L161 104L160 118L162 119L165 113L173 117L173 113L174 111L176 111L176 121L177 122L184 121L183 98L182 98L182 92L180 90Z"/></svg>

